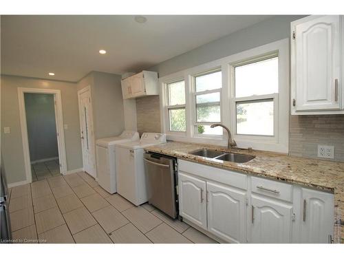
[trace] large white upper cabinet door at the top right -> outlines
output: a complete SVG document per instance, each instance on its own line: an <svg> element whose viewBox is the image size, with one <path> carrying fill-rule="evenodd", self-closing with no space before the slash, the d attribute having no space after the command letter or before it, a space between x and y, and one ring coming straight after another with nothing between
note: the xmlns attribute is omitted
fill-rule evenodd
<svg viewBox="0 0 344 258"><path fill-rule="evenodd" d="M294 111L340 109L340 17L292 23Z"/></svg>

